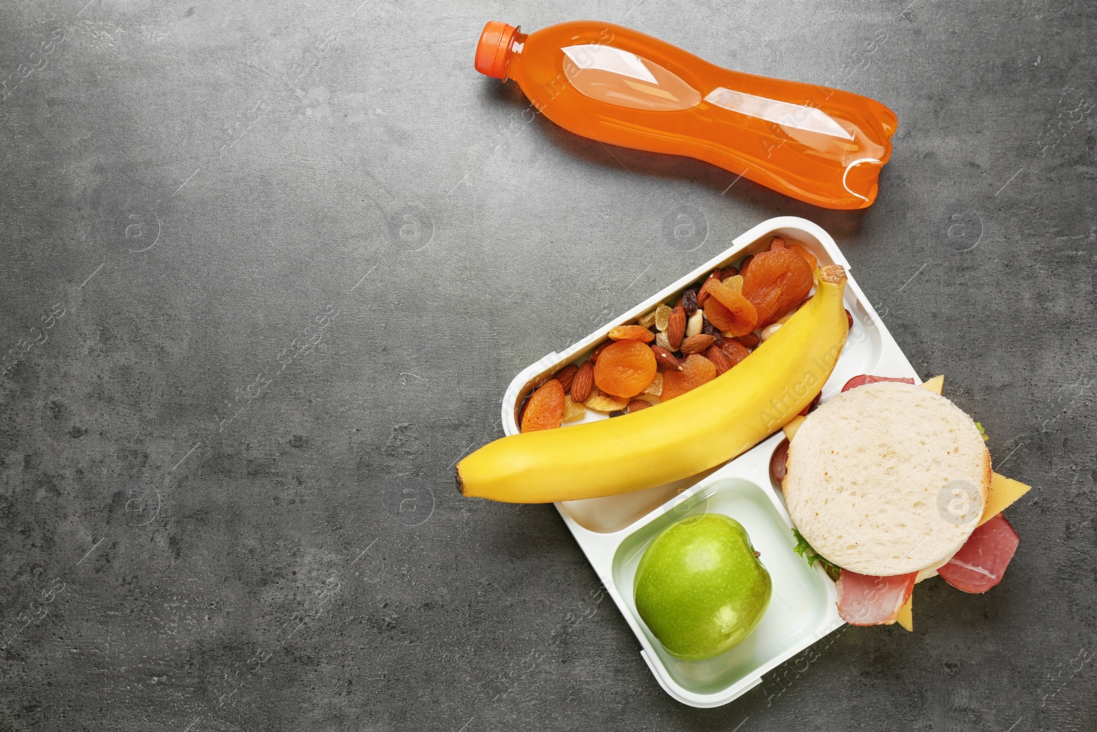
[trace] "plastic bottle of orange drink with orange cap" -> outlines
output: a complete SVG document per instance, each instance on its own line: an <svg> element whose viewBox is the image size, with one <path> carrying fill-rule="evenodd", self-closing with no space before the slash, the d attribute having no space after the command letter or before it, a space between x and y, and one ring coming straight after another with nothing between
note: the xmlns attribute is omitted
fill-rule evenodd
<svg viewBox="0 0 1097 732"><path fill-rule="evenodd" d="M491 21L476 70L513 79L559 126L602 143L706 160L827 209L863 209L891 157L895 114L874 100L732 71L596 21L534 33Z"/></svg>

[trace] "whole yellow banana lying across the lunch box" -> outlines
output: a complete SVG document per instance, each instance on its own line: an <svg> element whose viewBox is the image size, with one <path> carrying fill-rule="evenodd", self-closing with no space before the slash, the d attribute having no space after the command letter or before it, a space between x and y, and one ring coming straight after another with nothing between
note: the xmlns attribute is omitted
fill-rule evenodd
<svg viewBox="0 0 1097 732"><path fill-rule="evenodd" d="M735 368L653 409L511 435L457 463L466 496L508 503L597 498L695 475L749 450L807 406L846 342L846 271Z"/></svg>

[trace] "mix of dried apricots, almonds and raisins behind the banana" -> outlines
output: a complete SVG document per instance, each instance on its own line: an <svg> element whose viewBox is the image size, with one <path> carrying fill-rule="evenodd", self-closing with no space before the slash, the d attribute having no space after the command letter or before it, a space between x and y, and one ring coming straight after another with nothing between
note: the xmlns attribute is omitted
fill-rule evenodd
<svg viewBox="0 0 1097 732"><path fill-rule="evenodd" d="M818 259L780 236L738 267L713 270L679 297L610 329L581 363L534 390L519 410L523 432L620 417L672 399L734 369L769 338L814 284Z"/></svg>

